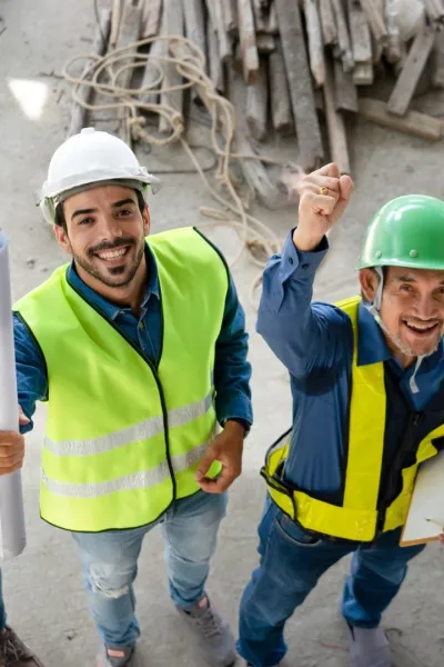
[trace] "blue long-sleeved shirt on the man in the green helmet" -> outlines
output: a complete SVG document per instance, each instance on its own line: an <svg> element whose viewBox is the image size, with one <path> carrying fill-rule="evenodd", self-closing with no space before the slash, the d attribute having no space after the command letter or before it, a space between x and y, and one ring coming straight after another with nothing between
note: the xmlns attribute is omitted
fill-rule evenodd
<svg viewBox="0 0 444 667"><path fill-rule="evenodd" d="M272 257L264 271L256 327L290 371L293 437L285 477L319 497L332 492L330 497L334 497L341 486L353 360L353 332L347 315L331 303L312 301L315 272L327 249L324 239L315 251L300 252L292 233L289 236L282 255ZM400 404L407 402L411 410L422 411L442 388L443 341L420 366L416 374L420 391L414 394L410 386L414 366L403 369L392 357L379 325L362 305L359 332L357 364L382 361L392 378L386 384L391 409L384 456L389 467L405 429L407 408ZM443 415L435 414L434 419L442 424ZM286 428L283 424L282 431Z"/></svg>

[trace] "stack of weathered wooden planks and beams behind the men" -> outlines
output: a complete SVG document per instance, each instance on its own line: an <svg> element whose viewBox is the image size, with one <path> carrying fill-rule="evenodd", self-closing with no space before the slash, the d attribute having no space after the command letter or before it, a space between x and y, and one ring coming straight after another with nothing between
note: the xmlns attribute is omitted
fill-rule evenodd
<svg viewBox="0 0 444 667"><path fill-rule="evenodd" d="M98 33L101 53L104 33L108 49L145 38L189 38L220 94L232 99L232 74L241 72L246 103L236 110L245 116L244 140L295 135L303 169L330 157L351 172L350 115L424 139L442 137L443 121L411 110L411 102L425 72L444 88L444 0L113 0L110 10ZM174 63L168 62L161 80L153 67L168 43L150 44L142 88L154 86L144 101L183 116L184 90L162 92L183 81ZM387 101L373 94L381 71L396 77ZM191 101L199 101L190 90ZM159 132L169 132L162 116Z"/></svg>

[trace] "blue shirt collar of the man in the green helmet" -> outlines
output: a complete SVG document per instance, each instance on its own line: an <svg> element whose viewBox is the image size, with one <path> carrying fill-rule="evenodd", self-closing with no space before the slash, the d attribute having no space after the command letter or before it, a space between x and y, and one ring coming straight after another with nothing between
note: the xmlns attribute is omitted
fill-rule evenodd
<svg viewBox="0 0 444 667"><path fill-rule="evenodd" d="M381 331L381 327L362 302L357 310L357 366L369 366L370 364L393 359L392 352L385 342L384 335ZM430 365L433 366L443 358L444 342L443 338L441 338L437 350L430 357L426 357L423 360L422 366L428 368Z"/></svg>

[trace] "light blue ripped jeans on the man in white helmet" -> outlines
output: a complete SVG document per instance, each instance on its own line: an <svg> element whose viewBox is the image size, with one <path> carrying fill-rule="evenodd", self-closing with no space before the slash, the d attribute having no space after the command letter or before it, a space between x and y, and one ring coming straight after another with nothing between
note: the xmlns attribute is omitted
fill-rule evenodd
<svg viewBox="0 0 444 667"><path fill-rule="evenodd" d="M170 596L178 607L189 607L204 596L226 500L225 495L199 491L178 500L158 521L165 540ZM134 646L140 635L133 583L143 538L155 525L73 534L80 547L90 611L107 646Z"/></svg>

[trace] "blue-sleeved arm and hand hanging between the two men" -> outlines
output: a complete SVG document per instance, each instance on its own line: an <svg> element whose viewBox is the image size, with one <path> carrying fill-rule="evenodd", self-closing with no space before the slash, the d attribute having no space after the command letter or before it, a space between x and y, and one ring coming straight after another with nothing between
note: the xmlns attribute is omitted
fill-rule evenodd
<svg viewBox="0 0 444 667"><path fill-rule="evenodd" d="M214 359L215 411L223 431L210 445L195 474L206 492L224 492L242 471L243 440L253 422L248 341L245 313L230 276ZM222 464L221 474L209 479L205 475L215 460Z"/></svg>

